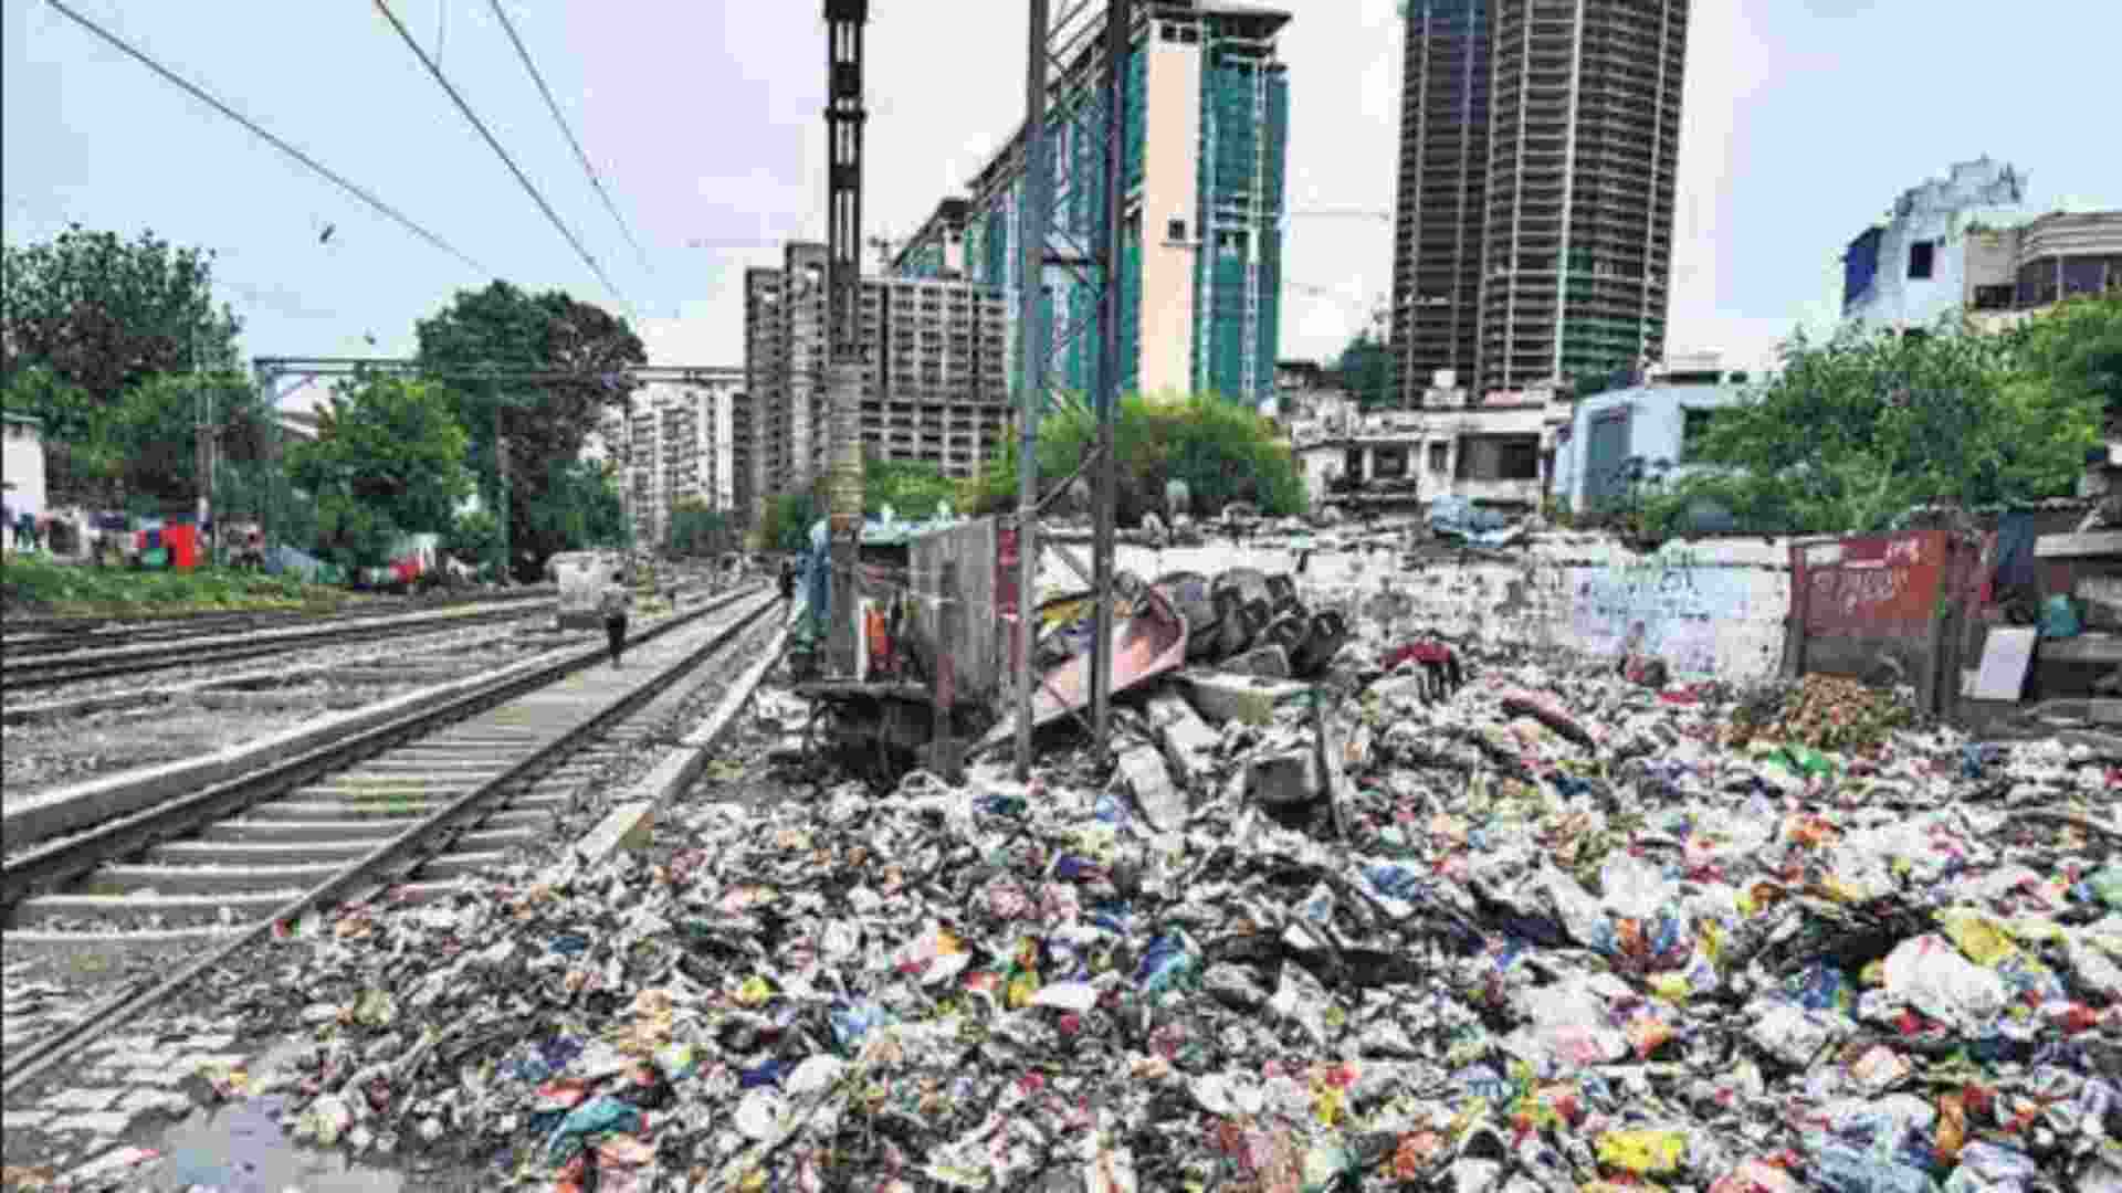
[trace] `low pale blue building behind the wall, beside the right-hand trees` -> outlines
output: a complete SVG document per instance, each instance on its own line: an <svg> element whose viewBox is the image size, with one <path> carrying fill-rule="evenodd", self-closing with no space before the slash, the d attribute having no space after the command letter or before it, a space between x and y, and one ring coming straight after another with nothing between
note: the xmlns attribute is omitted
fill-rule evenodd
<svg viewBox="0 0 2122 1193"><path fill-rule="evenodd" d="M1744 399L1744 382L1717 355L1672 357L1645 384L1579 401L1555 448L1555 497L1575 512L1615 501L1632 461L1645 476L1685 476L1717 410Z"/></svg>

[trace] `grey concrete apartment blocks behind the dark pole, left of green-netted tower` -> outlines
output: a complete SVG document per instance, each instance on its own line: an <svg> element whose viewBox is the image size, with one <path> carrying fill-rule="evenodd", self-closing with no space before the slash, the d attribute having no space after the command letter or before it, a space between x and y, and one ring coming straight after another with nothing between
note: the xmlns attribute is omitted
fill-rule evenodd
<svg viewBox="0 0 2122 1193"><path fill-rule="evenodd" d="M749 492L800 492L830 456L825 246L792 242L781 270L745 272ZM936 276L864 278L862 444L885 461L976 476L1010 420L1002 293ZM755 503L745 505L755 509Z"/></svg>

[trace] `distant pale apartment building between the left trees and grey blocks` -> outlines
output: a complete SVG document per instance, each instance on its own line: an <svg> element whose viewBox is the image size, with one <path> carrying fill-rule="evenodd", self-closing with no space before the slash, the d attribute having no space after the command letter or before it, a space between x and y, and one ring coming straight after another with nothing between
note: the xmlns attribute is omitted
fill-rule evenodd
<svg viewBox="0 0 2122 1193"><path fill-rule="evenodd" d="M601 450L620 471L634 541L666 541L671 509L688 497L738 507L730 446L743 397L734 382L651 382L605 414Z"/></svg>

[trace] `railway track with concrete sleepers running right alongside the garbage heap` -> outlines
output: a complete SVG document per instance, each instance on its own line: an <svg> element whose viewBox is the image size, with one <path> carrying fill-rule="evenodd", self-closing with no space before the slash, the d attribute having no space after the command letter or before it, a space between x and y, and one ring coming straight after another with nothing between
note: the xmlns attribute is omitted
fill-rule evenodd
<svg viewBox="0 0 2122 1193"><path fill-rule="evenodd" d="M601 643L569 647L450 705L11 858L4 947L197 940L204 955L6 1049L6 1091L312 906L380 887L439 894L537 843L596 764L603 730L698 667L734 660L779 605L766 588L719 596L641 626L626 669L603 667Z"/></svg>

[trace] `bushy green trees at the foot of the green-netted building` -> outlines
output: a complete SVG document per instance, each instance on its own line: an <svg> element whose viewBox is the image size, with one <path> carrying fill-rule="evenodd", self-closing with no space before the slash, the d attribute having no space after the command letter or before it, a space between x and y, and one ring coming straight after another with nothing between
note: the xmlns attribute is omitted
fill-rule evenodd
<svg viewBox="0 0 2122 1193"><path fill-rule="evenodd" d="M1040 418L1040 486L1050 488L1076 471L1097 437L1097 418L1080 399L1059 399ZM1163 509L1165 482L1184 480L1201 509L1252 501L1263 514L1288 516L1305 507L1303 473L1275 425L1254 410L1220 397L1152 401L1120 399L1112 427L1118 459L1116 518L1140 522ZM1014 509L1016 446L989 465L974 486L978 514Z"/></svg>

